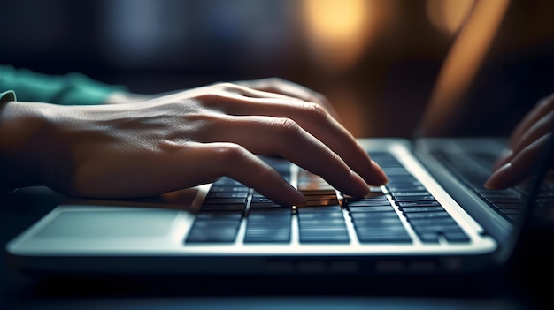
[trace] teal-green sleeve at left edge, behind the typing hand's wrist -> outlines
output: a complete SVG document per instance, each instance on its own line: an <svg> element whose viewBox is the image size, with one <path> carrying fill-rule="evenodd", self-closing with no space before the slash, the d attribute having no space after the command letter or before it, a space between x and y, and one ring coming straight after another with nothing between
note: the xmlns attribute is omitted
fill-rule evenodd
<svg viewBox="0 0 554 310"><path fill-rule="evenodd" d="M0 91L4 90L15 92L19 102L91 105L101 104L109 95L127 88L104 84L81 73L47 75L0 65Z"/></svg>

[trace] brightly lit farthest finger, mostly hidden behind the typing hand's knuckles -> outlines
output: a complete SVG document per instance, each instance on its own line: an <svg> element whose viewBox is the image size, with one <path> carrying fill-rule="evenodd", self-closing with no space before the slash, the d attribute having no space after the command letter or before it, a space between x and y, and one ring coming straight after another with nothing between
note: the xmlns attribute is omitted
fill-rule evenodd
<svg viewBox="0 0 554 310"><path fill-rule="evenodd" d="M252 89L261 90L264 92L287 95L289 97L295 97L303 100L304 102L316 102L321 105L323 108L331 114L332 117L340 121L340 117L336 112L335 108L329 102L325 95L322 95L308 87L304 87L300 84L294 82L279 79L279 78L268 78L268 79L254 79L246 81L235 82L237 85L242 85L245 87L250 87Z"/></svg>

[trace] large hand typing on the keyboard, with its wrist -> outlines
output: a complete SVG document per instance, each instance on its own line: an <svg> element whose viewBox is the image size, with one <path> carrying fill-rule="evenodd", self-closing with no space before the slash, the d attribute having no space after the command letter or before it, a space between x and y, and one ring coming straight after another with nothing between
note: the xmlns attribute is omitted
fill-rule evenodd
<svg viewBox="0 0 554 310"><path fill-rule="evenodd" d="M362 196L368 184L387 182L322 105L299 98L312 93L279 80L264 85L273 92L223 83L133 103L9 102L0 173L14 186L100 198L158 195L228 176L278 203L304 202L255 156L281 155L344 193Z"/></svg>

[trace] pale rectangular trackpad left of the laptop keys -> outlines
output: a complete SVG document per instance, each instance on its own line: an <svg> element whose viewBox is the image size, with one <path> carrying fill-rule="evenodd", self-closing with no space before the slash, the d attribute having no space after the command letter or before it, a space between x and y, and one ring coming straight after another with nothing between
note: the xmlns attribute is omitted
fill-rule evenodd
<svg viewBox="0 0 554 310"><path fill-rule="evenodd" d="M179 214L167 209L61 212L35 238L157 238L166 236Z"/></svg>

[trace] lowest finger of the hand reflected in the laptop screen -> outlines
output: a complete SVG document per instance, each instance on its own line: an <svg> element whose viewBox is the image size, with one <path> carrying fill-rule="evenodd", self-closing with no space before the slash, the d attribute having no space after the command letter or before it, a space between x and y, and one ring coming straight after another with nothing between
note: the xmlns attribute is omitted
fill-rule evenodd
<svg viewBox="0 0 554 310"><path fill-rule="evenodd" d="M550 135L551 133L545 134L538 140L521 148L519 152L514 153L512 160L495 170L484 186L490 189L503 189L518 185L530 177L531 173L534 172L532 168L542 150L547 146Z"/></svg>

